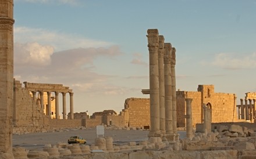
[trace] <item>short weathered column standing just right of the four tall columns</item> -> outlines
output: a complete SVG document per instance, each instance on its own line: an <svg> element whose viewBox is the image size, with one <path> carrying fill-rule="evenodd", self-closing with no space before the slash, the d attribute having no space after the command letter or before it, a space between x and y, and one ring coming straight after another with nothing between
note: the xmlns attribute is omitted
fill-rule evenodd
<svg viewBox="0 0 256 159"><path fill-rule="evenodd" d="M192 125L192 110L191 110L191 98L186 98L186 136L188 139L193 138L193 125Z"/></svg>

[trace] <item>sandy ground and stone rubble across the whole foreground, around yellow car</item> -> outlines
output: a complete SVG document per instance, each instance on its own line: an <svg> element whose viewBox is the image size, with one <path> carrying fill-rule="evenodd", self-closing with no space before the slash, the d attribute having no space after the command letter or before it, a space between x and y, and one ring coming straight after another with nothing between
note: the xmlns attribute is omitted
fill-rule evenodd
<svg viewBox="0 0 256 159"><path fill-rule="evenodd" d="M192 140L179 131L179 141L148 139L148 131L137 128L105 128L104 137L83 127L57 132L13 135L15 158L256 158L256 133L222 125L218 131L194 133ZM67 144L72 135L81 135L87 144Z"/></svg>

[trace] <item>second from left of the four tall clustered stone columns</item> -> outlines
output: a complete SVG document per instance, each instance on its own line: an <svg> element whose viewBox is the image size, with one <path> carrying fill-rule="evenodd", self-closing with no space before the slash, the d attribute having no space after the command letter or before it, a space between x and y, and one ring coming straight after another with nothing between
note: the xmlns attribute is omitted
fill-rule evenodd
<svg viewBox="0 0 256 159"><path fill-rule="evenodd" d="M158 72L159 72L159 107L160 107L160 131L162 140L166 140L165 131L165 78L163 71L163 46L165 38L162 35L158 36Z"/></svg>

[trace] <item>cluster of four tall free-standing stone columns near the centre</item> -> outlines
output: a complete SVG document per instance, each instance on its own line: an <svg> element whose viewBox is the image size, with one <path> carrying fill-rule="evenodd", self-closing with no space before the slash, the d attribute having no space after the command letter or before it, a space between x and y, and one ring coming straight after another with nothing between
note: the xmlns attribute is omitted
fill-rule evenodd
<svg viewBox="0 0 256 159"><path fill-rule="evenodd" d="M149 29L148 50L150 53L150 133L149 137L175 140L176 78L175 52L170 43L164 43L157 29ZM178 135L177 135L178 136Z"/></svg>

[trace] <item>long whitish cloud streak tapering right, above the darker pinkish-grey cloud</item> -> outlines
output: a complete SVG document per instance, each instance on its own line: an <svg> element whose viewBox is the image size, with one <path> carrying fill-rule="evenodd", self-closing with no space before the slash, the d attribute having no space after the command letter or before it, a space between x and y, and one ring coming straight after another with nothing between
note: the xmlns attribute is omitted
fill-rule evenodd
<svg viewBox="0 0 256 159"><path fill-rule="evenodd" d="M73 48L98 48L114 45L111 42L88 39L76 34L65 34L42 28L15 27L14 41L19 43L38 42L41 45L54 47L56 51Z"/></svg>

